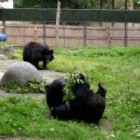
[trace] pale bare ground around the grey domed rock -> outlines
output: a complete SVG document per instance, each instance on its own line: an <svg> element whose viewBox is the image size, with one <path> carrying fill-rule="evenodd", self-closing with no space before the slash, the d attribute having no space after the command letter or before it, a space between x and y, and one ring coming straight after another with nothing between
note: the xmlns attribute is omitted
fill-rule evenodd
<svg viewBox="0 0 140 140"><path fill-rule="evenodd" d="M19 62L19 60L9 60L9 59L0 59L0 79L3 76L5 70L13 63ZM65 73L60 73L60 72L56 72L53 70L39 70L40 75L42 76L42 78L47 82L47 83L51 83L53 80L59 78L59 77L65 77ZM9 95L15 95L15 94L8 94L5 93L3 90L0 89L0 98L4 98L7 97ZM26 94L24 96L32 96L32 94ZM44 96L42 94L34 94L33 97L38 97L38 96Z"/></svg>

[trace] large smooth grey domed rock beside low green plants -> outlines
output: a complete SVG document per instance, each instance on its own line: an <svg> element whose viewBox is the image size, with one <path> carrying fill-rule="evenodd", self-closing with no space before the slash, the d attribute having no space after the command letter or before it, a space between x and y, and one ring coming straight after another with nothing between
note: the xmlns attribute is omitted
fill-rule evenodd
<svg viewBox="0 0 140 140"><path fill-rule="evenodd" d="M15 81L18 86L25 86L29 80L42 80L42 77L32 64L17 62L4 72L0 85L9 85Z"/></svg>

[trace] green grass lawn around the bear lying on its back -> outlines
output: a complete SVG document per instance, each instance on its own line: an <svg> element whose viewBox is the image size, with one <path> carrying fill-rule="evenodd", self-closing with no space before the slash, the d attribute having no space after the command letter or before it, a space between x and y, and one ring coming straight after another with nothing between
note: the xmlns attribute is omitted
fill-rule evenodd
<svg viewBox="0 0 140 140"><path fill-rule="evenodd" d="M0 99L0 135L47 140L130 140L140 138L140 47L73 47L55 49L48 65L60 72L80 69L96 91L107 87L107 107L100 125L51 118L44 99ZM21 49L16 49L21 59Z"/></svg>

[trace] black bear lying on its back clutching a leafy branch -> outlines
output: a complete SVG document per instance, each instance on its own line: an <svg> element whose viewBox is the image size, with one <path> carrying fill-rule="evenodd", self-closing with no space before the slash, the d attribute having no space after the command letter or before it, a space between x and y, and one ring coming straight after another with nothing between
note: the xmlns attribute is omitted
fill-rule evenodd
<svg viewBox="0 0 140 140"><path fill-rule="evenodd" d="M85 80L82 74L80 76L82 80ZM87 123L93 122L98 124L106 106L105 102L106 88L103 86L103 84L99 83L98 91L94 93L90 89L90 85L88 82L84 81L82 83L75 83L72 87L75 98L67 102L63 102L62 95L64 94L63 93L64 85L61 84L59 79L58 81L59 84L57 84L57 88L46 89L47 91L46 94L49 94L49 96L53 96L53 100L57 101L58 96L61 96L60 104L54 105L51 108L52 116L60 120L73 119L78 121L85 121ZM56 82L53 82L51 84L51 87L55 83ZM56 86L56 84L54 86ZM58 88L59 90L57 90ZM54 97L54 92L57 93L57 91L59 91L58 96ZM51 100L48 98L47 104L49 105L50 102Z"/></svg>

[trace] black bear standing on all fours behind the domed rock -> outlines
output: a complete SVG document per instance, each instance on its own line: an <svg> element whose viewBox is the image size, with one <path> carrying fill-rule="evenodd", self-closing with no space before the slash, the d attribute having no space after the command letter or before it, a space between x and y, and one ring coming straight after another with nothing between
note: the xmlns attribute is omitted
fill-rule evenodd
<svg viewBox="0 0 140 140"><path fill-rule="evenodd" d="M53 53L53 50L50 50L47 45L29 42L24 45L23 60L30 62L37 69L40 69L39 61L43 61L43 69L46 69L48 62L54 59Z"/></svg>

